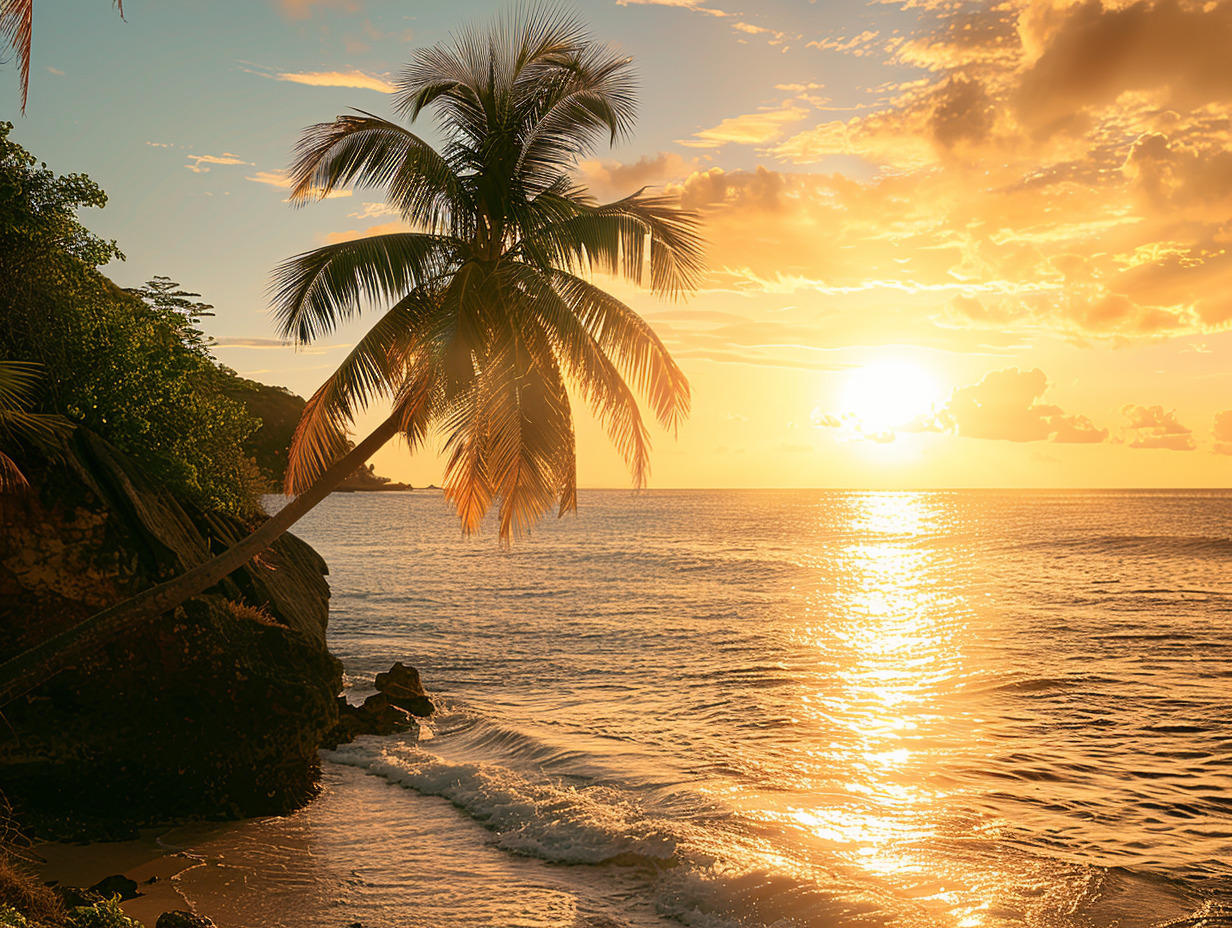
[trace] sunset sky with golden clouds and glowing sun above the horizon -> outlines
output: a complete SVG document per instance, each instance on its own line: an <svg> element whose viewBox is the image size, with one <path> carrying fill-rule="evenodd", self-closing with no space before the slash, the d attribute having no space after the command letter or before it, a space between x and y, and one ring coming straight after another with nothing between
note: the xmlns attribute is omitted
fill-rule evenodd
<svg viewBox="0 0 1232 928"><path fill-rule="evenodd" d="M5 54L0 118L107 191L83 221L126 254L113 280L200 292L221 361L308 396L371 317L283 345L270 271L400 226L379 190L287 203L299 133L392 117L416 48L503 9L34 0L28 106ZM579 177L676 196L707 240L685 301L604 281L692 386L650 487L1230 486L1232 0L559 9L641 84L634 136ZM580 484L628 486L578 429ZM441 482L434 449L375 462Z"/></svg>

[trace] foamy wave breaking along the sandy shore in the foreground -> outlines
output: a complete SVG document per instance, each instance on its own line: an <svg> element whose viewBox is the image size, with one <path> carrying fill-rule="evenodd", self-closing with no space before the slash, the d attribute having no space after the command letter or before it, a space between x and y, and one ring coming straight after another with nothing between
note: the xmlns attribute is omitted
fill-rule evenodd
<svg viewBox="0 0 1232 928"><path fill-rule="evenodd" d="M446 718L444 728L467 738L468 751L499 742L526 757L537 744L474 717ZM913 901L913 893L904 896L892 882L851 866L841 855L818 859L804 845L791 850L786 834L774 838L772 853L765 853L771 850L765 843L770 836L755 834L738 820L726 820L721 831L717 816L710 822L686 812L659 816L617 785L572 786L501 763L450 759L398 737L361 738L324 757L414 792L446 799L487 828L496 848L551 864L579 865L586 873L573 879L582 882L611 880L605 871L589 868L618 866L622 880L636 879L643 886L659 916L689 928L949 923L945 910L933 911L926 900ZM979 842L955 844L955 860L983 857ZM942 873L946 852L933 863ZM1025 852L1015 853L1013 860L991 852L987 864L989 875L1000 873L1002 880L1011 881L1005 884L1009 896L987 922L998 928L1021 923L1026 913L1056 914L1058 906L1067 905L1082 906L1083 923L1093 928L1232 928L1226 911L1209 900L1195 900L1172 881L1121 868L1067 864ZM1101 917L1105 902L1125 896L1136 900L1132 912L1117 907L1120 921Z"/></svg>

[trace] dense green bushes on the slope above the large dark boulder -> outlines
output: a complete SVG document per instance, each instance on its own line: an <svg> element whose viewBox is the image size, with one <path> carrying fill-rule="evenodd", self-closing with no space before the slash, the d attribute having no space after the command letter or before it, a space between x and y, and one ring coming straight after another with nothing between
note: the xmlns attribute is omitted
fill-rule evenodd
<svg viewBox="0 0 1232 928"><path fill-rule="evenodd" d="M123 255L76 210L106 195L37 164L11 129L0 123L0 359L41 366L34 412L97 431L185 499L254 513L244 442L260 423L196 328L211 307L166 277L124 292L100 274Z"/></svg>

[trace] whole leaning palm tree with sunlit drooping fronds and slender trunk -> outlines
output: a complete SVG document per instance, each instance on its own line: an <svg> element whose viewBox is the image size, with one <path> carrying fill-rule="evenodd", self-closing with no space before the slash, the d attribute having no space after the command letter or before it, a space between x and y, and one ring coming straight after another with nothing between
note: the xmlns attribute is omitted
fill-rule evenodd
<svg viewBox="0 0 1232 928"><path fill-rule="evenodd" d="M420 51L403 71L395 110L410 122L435 111L440 150L365 112L307 129L294 202L383 186L411 230L326 245L275 271L276 318L297 344L389 304L308 401L287 470L298 495L212 561L0 665L0 705L244 564L394 435L414 449L441 434L463 529L499 500L508 540L577 505L572 385L644 483L634 389L674 429L689 385L649 325L590 276L689 292L702 271L697 221L644 191L600 205L570 179L601 138L631 131L633 89L627 58L573 20L531 12ZM389 417L347 451L347 425L376 399L392 403Z"/></svg>

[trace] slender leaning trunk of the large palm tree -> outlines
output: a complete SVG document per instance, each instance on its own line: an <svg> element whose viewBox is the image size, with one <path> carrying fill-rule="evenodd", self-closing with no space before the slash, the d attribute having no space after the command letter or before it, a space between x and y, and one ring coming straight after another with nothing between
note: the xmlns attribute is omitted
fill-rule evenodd
<svg viewBox="0 0 1232 928"><path fill-rule="evenodd" d="M186 599L209 589L243 567L392 439L398 431L398 414L391 415L345 457L335 461L312 487L270 516L246 539L217 557L175 579L96 613L81 624L5 661L0 664L0 706L30 693L38 684L71 667L81 657L99 649L121 633L175 609Z"/></svg>

